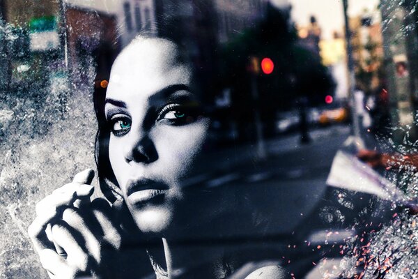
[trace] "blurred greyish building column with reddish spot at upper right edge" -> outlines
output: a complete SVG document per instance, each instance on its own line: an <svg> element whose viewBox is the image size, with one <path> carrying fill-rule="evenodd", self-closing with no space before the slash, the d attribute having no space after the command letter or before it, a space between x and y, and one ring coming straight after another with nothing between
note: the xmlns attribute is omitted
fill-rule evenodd
<svg viewBox="0 0 418 279"><path fill-rule="evenodd" d="M418 107L418 13L413 0L382 0L385 72L392 122L412 124Z"/></svg>

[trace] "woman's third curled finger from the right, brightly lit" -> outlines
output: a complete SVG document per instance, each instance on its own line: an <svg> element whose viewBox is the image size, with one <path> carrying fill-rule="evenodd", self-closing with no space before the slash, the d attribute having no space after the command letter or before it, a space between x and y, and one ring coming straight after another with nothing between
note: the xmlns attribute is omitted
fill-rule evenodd
<svg viewBox="0 0 418 279"><path fill-rule="evenodd" d="M52 236L54 242L67 253L66 260L70 266L77 266L81 271L88 269L91 262L82 234L72 229L67 223L60 222L52 226Z"/></svg>

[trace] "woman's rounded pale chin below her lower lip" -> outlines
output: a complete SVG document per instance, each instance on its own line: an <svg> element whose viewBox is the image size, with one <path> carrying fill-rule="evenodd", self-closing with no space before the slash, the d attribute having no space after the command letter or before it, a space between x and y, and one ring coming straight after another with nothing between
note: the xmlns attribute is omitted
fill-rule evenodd
<svg viewBox="0 0 418 279"><path fill-rule="evenodd" d="M164 237L173 219L171 209L165 206L146 206L142 209L134 209L131 213L141 232L155 236Z"/></svg>

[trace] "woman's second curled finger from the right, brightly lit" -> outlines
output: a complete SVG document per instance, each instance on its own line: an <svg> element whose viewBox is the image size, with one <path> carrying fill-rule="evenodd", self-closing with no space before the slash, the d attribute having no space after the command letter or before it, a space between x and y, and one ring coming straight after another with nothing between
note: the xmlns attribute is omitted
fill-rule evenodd
<svg viewBox="0 0 418 279"><path fill-rule="evenodd" d="M101 229L98 227L98 224L96 225L96 228L94 228L93 223L91 222L88 222L87 225L86 219L83 218L83 216L81 216L75 209L71 208L65 209L63 212L63 220L65 223L70 225L70 227L82 234L88 253L92 255L96 261L99 261L100 241L98 241L98 236L102 236L102 234L98 233Z"/></svg>

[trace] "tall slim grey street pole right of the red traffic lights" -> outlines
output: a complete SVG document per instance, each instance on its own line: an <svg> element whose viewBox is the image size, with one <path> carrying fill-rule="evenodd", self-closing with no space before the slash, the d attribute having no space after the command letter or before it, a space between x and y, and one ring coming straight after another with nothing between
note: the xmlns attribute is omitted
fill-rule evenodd
<svg viewBox="0 0 418 279"><path fill-rule="evenodd" d="M349 75L349 87L348 95L350 96L351 103L351 117L353 120L352 133L356 141L361 142L360 145L364 145L360 134L359 117L356 112L355 105L355 73L354 73L354 60L353 60L353 47L351 46L351 31L350 23L348 22L348 0L343 0L343 12L344 23L346 25L346 50L347 50L347 63L348 63L348 75Z"/></svg>

